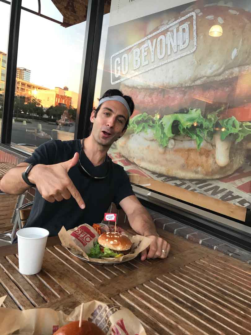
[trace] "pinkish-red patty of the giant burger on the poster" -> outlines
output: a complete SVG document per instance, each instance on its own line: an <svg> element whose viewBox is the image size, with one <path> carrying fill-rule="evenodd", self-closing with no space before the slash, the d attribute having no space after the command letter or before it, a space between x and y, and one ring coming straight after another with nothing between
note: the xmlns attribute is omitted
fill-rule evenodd
<svg viewBox="0 0 251 335"><path fill-rule="evenodd" d="M151 115L159 112L160 116L164 116L181 108L198 107L200 100L229 102L235 96L237 79L172 89L137 88L122 84L120 89L123 94L130 95L133 98L135 108L140 112L147 111Z"/></svg>

